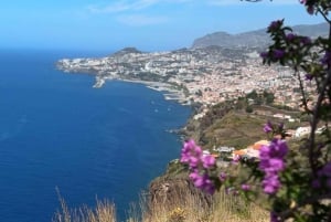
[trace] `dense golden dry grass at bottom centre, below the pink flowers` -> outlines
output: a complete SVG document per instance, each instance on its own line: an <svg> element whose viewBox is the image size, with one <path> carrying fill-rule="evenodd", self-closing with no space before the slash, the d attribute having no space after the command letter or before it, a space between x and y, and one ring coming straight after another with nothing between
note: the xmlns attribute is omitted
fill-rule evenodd
<svg viewBox="0 0 331 222"><path fill-rule="evenodd" d="M207 204L199 195L181 195L173 204L153 203L142 222L264 222L269 213L242 197L217 192Z"/></svg>

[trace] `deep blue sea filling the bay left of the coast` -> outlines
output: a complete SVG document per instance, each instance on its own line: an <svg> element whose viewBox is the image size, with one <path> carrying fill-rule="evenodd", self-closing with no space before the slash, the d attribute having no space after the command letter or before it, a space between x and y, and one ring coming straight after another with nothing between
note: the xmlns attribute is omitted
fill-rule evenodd
<svg viewBox="0 0 331 222"><path fill-rule="evenodd" d="M79 52L0 51L0 221L51 221L60 208L130 202L181 149L190 107L143 85L55 68ZM104 56L105 54L100 54Z"/></svg>

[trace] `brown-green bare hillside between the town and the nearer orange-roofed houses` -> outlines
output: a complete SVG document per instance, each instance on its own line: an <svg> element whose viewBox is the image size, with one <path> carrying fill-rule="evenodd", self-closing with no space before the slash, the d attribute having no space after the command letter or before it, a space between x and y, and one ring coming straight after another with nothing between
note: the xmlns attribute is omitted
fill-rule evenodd
<svg viewBox="0 0 331 222"><path fill-rule="evenodd" d="M204 149L212 149L220 146L234 147L235 149L267 139L263 131L264 125L271 120L281 123L281 119L273 117L274 114L288 114L288 110L265 105L249 106L252 112L247 112L246 102L225 102L211 108L201 119L191 118L184 130L185 138L193 138ZM298 116L299 112L290 112L292 116ZM292 123L285 123L286 127L295 126ZM302 124L302 123L301 123Z"/></svg>

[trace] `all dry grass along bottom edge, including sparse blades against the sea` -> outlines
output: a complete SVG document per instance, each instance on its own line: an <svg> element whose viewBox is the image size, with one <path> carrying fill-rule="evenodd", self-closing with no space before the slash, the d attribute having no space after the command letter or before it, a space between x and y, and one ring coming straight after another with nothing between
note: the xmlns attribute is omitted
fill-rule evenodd
<svg viewBox="0 0 331 222"><path fill-rule="evenodd" d="M71 210L60 197L61 211L54 222L116 222L115 205L108 201L97 201L94 210L82 207ZM142 197L140 204L132 205L126 222L264 222L269 221L269 213L243 198L217 192L211 201L201 195L181 193L171 200L150 202Z"/></svg>

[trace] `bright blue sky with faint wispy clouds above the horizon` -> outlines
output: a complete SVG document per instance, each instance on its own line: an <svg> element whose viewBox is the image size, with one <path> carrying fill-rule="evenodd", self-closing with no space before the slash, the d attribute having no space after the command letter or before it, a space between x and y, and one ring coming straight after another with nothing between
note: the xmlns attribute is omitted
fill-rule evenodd
<svg viewBox="0 0 331 222"><path fill-rule="evenodd" d="M0 50L169 51L217 31L263 29L276 19L289 25L323 22L299 0L1 0Z"/></svg>

